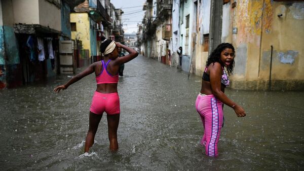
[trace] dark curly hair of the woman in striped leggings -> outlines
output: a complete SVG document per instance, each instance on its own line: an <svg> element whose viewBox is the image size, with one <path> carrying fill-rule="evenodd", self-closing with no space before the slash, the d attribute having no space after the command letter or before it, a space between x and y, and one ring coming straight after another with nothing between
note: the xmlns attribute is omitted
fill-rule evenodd
<svg viewBox="0 0 304 171"><path fill-rule="evenodd" d="M221 63L220 62L220 53L224 49L226 49L226 48L232 49L233 53L235 53L235 48L233 47L232 44L230 44L230 43L221 43L209 55L209 57L208 57L208 59L206 61L206 66L209 66L211 63L214 63L214 62ZM229 75L233 72L234 65L235 65L235 61L232 60L232 62L230 63L230 65L226 66L227 73Z"/></svg>

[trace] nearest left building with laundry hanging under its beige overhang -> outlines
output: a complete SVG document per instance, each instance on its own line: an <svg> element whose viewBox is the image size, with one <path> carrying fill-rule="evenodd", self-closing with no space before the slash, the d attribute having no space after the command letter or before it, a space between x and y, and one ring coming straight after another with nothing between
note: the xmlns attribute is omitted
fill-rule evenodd
<svg viewBox="0 0 304 171"><path fill-rule="evenodd" d="M63 0L1 1L0 88L55 76L58 41L69 37L61 11L69 12Z"/></svg>

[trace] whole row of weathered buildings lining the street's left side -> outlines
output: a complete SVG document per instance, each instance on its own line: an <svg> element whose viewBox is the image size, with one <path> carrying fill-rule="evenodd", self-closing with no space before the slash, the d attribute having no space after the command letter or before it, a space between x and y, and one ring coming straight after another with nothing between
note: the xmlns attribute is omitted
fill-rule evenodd
<svg viewBox="0 0 304 171"><path fill-rule="evenodd" d="M123 40L122 13L110 0L0 1L0 89L100 60L101 36Z"/></svg>

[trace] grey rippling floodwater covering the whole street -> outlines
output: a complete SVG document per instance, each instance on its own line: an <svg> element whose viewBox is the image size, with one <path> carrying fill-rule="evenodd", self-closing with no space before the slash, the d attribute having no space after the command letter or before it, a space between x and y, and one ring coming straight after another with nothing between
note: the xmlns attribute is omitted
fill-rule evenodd
<svg viewBox="0 0 304 171"><path fill-rule="evenodd" d="M119 81L119 151L109 151L103 117L84 154L94 75L53 93L69 75L45 84L0 91L2 170L304 170L304 92L226 94L247 116L224 107L219 157L200 145L195 110L201 78L139 56Z"/></svg>

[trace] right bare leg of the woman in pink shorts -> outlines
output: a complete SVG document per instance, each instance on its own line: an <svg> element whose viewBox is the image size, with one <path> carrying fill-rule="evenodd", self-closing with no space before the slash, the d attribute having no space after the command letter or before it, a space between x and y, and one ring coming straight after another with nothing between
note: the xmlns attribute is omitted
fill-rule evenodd
<svg viewBox="0 0 304 171"><path fill-rule="evenodd" d="M106 116L108 122L108 136L109 136L111 151L118 150L117 128L119 124L119 117L120 114Z"/></svg>

